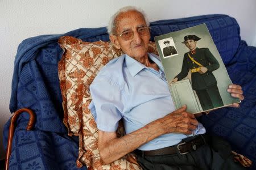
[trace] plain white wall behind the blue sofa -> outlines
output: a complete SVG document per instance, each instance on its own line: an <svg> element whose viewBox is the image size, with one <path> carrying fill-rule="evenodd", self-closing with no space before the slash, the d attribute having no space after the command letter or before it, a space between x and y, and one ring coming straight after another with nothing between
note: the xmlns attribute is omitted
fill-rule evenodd
<svg viewBox="0 0 256 170"><path fill-rule="evenodd" d="M256 46L255 0L0 0L0 159L4 156L3 125L11 116L11 77L18 44L27 37L42 34L65 33L82 27L104 27L118 8L127 5L141 7L150 22L203 14L228 14L240 24L242 39Z"/></svg>

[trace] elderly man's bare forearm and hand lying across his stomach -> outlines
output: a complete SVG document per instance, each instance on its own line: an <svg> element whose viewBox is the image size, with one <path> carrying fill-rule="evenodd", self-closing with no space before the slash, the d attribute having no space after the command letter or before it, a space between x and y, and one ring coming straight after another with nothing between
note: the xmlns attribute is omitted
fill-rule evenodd
<svg viewBox="0 0 256 170"><path fill-rule="evenodd" d="M193 114L186 112L186 109L187 107L184 105L180 109L123 137L117 137L116 132L99 130L98 149L102 161L105 164L110 164L163 134L192 134L198 122Z"/></svg>

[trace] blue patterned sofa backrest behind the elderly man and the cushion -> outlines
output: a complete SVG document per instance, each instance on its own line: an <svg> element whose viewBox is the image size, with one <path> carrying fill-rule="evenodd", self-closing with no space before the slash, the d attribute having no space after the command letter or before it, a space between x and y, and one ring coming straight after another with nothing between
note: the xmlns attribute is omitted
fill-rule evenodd
<svg viewBox="0 0 256 170"><path fill-rule="evenodd" d="M152 22L151 41L154 41L154 36L201 23L207 24L224 63L229 63L236 53L241 37L236 19L228 15L203 15ZM10 109L14 112L23 107L31 108L37 115L36 128L64 133L57 76L57 63L63 53L57 44L61 36L73 36L88 42L109 41L105 27L80 28L62 35L43 35L24 40L19 45L15 58ZM26 120L27 117L24 122Z"/></svg>

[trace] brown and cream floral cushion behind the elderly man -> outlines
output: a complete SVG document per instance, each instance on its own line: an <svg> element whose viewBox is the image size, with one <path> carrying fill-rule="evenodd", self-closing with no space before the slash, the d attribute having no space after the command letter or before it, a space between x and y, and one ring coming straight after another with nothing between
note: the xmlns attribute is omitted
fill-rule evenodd
<svg viewBox="0 0 256 170"><path fill-rule="evenodd" d="M79 136L77 167L86 165L88 169L141 169L132 154L112 164L102 164L97 146L98 129L88 109L92 100L90 84L102 66L121 56L121 50L110 42L83 42L71 36L60 37L59 45L64 50L58 68L63 97L63 123L68 128L68 135ZM157 54L154 42L150 42L148 52ZM117 132L118 135L124 134L122 122Z"/></svg>

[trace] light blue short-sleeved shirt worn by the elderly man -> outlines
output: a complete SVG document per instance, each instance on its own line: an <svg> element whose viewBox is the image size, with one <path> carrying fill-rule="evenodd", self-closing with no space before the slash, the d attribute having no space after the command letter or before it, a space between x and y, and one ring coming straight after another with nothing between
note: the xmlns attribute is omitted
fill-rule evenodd
<svg viewBox="0 0 256 170"><path fill-rule="evenodd" d="M92 102L89 109L102 131L116 131L123 118L126 134L175 111L163 66L158 56L148 53L159 71L146 67L123 54L103 67L90 85ZM203 134L199 124L193 134ZM155 150L176 145L190 135L170 133L159 136L139 147Z"/></svg>

